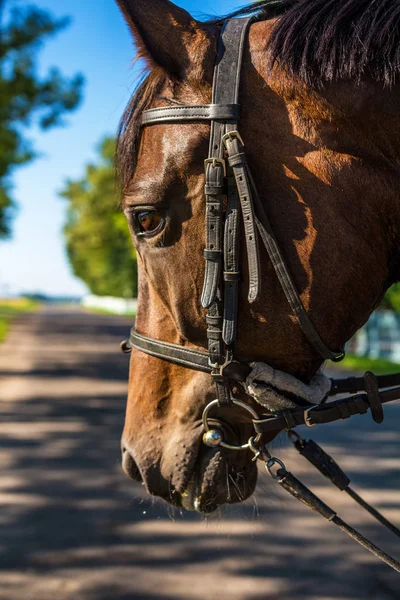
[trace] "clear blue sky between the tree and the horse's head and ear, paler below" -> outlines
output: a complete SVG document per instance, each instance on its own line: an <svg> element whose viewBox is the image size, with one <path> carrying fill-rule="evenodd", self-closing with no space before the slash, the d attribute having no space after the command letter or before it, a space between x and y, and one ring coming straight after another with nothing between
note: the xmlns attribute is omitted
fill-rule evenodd
<svg viewBox="0 0 400 600"><path fill-rule="evenodd" d="M149 8L151 7L151 0ZM238 0L177 2L195 17L222 15L245 4ZM49 40L40 54L40 69L56 65L66 75L81 71L85 97L66 126L48 133L32 129L40 158L14 176L19 210L11 241L0 243L0 296L9 291L48 294L85 293L66 258L62 237L65 201L58 191L68 178L78 178L96 156L96 146L114 134L135 87L131 69L134 50L114 0L36 0L55 16L69 15L72 24Z"/></svg>

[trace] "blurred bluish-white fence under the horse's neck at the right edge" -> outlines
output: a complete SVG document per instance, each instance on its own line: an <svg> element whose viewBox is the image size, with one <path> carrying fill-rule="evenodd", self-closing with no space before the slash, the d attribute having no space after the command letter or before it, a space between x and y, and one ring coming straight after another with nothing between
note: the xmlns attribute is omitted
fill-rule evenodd
<svg viewBox="0 0 400 600"><path fill-rule="evenodd" d="M350 340L348 349L357 356L400 363L400 315L391 310L377 310Z"/></svg>

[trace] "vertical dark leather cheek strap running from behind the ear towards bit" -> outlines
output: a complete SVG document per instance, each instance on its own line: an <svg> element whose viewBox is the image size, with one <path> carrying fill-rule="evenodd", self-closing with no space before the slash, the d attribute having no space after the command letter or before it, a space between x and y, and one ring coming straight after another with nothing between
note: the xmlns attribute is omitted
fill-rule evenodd
<svg viewBox="0 0 400 600"><path fill-rule="evenodd" d="M242 57L244 42L251 19L231 19L226 21L221 32L218 58L214 71L213 104L234 105L238 104L240 89L240 74L242 70ZM226 345L222 326L222 317L235 313L235 298L232 287L231 294L223 291L222 279L222 250L224 238L224 201L226 182L226 163L224 159L223 138L228 127L236 127L237 119L221 122L217 119L211 121L209 155L206 160L206 250L205 250L205 277L202 293L202 305L208 308L208 348L210 363L214 365L212 377L214 379L217 398L221 405L231 404L230 382L220 372L221 366L232 358L230 345L235 338L227 336L230 344ZM210 193L211 192L211 193ZM231 233L229 234L229 231ZM228 230L232 236L232 245L237 247L238 228ZM233 270L230 271L232 277ZM229 275L228 275L229 277ZM224 302L222 302L224 298ZM226 305L226 301L228 304ZM232 302L232 304L231 304ZM237 299L236 299L237 304ZM221 324L215 328L210 324L209 318L221 317ZM235 315L236 321L236 315ZM236 329L235 326L232 328Z"/></svg>

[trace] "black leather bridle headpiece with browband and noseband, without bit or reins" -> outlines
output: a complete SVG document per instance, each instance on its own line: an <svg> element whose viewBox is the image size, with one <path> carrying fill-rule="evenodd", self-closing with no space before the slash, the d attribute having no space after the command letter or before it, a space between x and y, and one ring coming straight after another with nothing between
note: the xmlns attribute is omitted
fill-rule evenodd
<svg viewBox="0 0 400 600"><path fill-rule="evenodd" d="M147 338L132 329L125 349L135 348L177 365L210 373L220 404L232 401L230 381L243 382L251 371L234 359L239 290L240 213L249 270L248 301L261 291L259 240L264 243L293 314L311 346L325 360L339 361L312 324L276 242L254 185L244 142L239 134L239 88L242 59L251 19L226 21L220 36L214 73L213 103L146 110L142 127L157 123L210 122L210 149L205 160L206 248L201 303L207 312L208 352ZM224 210L227 197L226 210Z"/></svg>

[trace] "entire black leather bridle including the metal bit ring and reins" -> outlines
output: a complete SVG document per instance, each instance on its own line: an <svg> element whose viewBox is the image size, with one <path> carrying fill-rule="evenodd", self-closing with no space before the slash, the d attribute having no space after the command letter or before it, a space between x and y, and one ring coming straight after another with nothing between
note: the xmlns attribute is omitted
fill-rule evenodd
<svg viewBox="0 0 400 600"><path fill-rule="evenodd" d="M252 367L235 360L237 338L240 223L244 226L246 241L249 290L248 302L255 302L261 293L259 241L264 244L276 276L299 326L313 349L324 359L339 362L344 350L333 351L322 341L302 303L277 244L274 232L258 195L239 133L239 89L244 45L251 19L230 19L225 22L218 46L214 70L212 104L173 105L143 112L141 126L158 123L210 122L210 146L205 160L206 248L205 277L201 303L207 309L208 352L154 340L134 328L128 340L121 345L123 352L132 349L196 371L209 373L216 386L217 399L208 404L203 413L203 441L211 447L230 450L250 450L253 460L263 460L267 471L292 496L332 521L378 558L400 572L400 563L349 527L336 513L315 496L306 486L289 473L282 461L272 457L262 439L265 434L286 430L299 452L337 487L345 490L375 518L400 536L400 531L380 513L366 504L348 487L350 481L333 459L314 442L300 438L293 431L299 425L314 427L371 410L377 423L383 421L382 405L400 398L400 374L375 377L366 373L363 378L331 380L328 397L342 393L354 395L314 405L296 401L294 408L268 412L261 417L245 404L232 397L232 382L244 384ZM225 199L227 205L225 208ZM398 387L393 387L398 386ZM381 388L393 388L380 391ZM364 392L364 393L358 393ZM255 398L257 401L257 399ZM254 437L247 444L233 446L224 441L223 433L209 427L209 414L221 406L237 406L251 415ZM213 419L215 421L215 419ZM279 469L276 470L276 465Z"/></svg>

